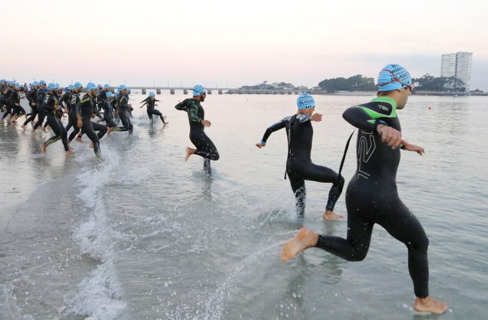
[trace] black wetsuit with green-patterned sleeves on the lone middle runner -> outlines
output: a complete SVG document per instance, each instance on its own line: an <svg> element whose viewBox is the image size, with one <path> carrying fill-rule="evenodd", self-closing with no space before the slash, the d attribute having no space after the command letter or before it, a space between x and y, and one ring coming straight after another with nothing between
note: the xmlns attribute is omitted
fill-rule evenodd
<svg viewBox="0 0 488 320"><path fill-rule="evenodd" d="M200 101L194 99L184 99L178 103L175 108L177 110L186 111L188 114L188 122L190 123L190 141L195 145L197 150L196 155L206 159L203 162L203 167L211 174L210 160L217 161L220 158L219 151L214 143L205 134L202 120L205 119L205 112L203 111Z"/></svg>

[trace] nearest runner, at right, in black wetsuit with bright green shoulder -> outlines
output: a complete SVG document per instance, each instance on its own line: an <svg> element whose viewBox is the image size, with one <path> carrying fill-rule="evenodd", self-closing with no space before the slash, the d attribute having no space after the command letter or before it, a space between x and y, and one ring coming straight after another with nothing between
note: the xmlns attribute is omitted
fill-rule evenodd
<svg viewBox="0 0 488 320"><path fill-rule="evenodd" d="M346 191L347 239L318 235L307 228L283 248L287 261L315 246L348 261L366 257L374 224L383 226L408 249L408 271L413 281L414 309L444 313L447 304L429 297L427 235L413 213L398 196L396 173L400 150L424 149L402 140L397 109L403 109L413 87L410 74L400 65L387 65L378 76L378 97L347 109L343 116L359 129L356 144L358 165Z"/></svg>

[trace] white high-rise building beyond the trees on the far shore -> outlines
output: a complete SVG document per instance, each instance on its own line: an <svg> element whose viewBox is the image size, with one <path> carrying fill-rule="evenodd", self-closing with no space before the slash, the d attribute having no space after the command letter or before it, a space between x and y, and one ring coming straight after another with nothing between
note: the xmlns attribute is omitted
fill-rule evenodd
<svg viewBox="0 0 488 320"><path fill-rule="evenodd" d="M457 52L455 54L442 55L441 76L455 76L464 82L466 91L471 88L472 52Z"/></svg>

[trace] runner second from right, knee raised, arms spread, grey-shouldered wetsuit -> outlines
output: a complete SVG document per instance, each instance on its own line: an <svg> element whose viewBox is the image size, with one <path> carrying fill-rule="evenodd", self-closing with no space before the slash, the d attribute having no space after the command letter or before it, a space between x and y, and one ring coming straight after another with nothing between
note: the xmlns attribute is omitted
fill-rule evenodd
<svg viewBox="0 0 488 320"><path fill-rule="evenodd" d="M285 178L287 174L291 189L295 194L297 214L301 217L305 214L305 180L310 180L332 183L323 218L325 220L343 219L343 216L334 213L334 206L341 196L344 178L332 169L313 164L310 159L313 139L312 121L322 121L322 114L312 115L315 111L315 100L310 94L300 94L297 98L297 106L297 114L288 116L269 127L256 147L264 147L272 132L285 128L288 136Z"/></svg>

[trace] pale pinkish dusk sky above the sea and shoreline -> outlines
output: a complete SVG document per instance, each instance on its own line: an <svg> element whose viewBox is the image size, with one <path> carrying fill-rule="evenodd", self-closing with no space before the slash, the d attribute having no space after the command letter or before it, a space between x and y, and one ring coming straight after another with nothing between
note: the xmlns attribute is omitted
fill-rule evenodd
<svg viewBox="0 0 488 320"><path fill-rule="evenodd" d="M430 1L8 1L0 77L61 85L316 86L398 63L440 76L441 54L473 52L488 91L488 3Z"/></svg>

